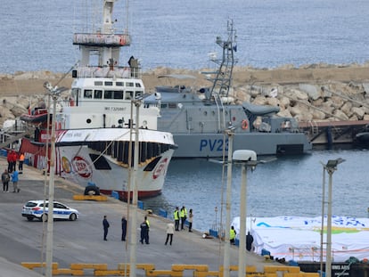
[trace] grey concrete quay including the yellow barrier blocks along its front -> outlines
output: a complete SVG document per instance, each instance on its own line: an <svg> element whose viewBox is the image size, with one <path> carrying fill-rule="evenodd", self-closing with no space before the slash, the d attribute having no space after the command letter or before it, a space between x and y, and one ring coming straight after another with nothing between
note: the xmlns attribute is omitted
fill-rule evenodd
<svg viewBox="0 0 369 277"><path fill-rule="evenodd" d="M0 158L0 166L2 171L7 168L4 157ZM2 273L0 275L12 276L13 273L16 273L17 276L39 276L38 274L43 273L42 269L35 265L45 263L46 224L44 225L38 220L28 221L27 218L21 216L21 209L29 200L43 200L44 196L47 195L45 190L47 186L47 176L34 167L26 165L20 175L19 188L21 191L19 193L0 193L1 221L3 223L2 235L0 236L2 245L0 248L0 256L2 257L0 259L2 268L0 272ZM12 191L12 182L10 183L10 191ZM73 273L72 267L90 266L89 269L79 269L79 271L75 269L73 275L81 273L85 276L96 276L98 271L93 270L92 265L96 265L96 267L100 265L100 269L105 269L100 271L102 275L109 275L107 269L111 270L111 273L116 273L115 275L123 275L124 267L122 265L130 263L129 223L132 210L127 206L127 203L111 197L108 197L106 201L73 200L73 196L81 195L83 192L84 188L81 186L55 177L54 200L60 201L70 208L77 208L79 218L76 221L55 220L53 222L53 263L56 263L54 264L55 268L64 269L59 272L55 270L53 273L60 276L70 276ZM47 199L47 197L45 198ZM103 216L107 216L110 223L106 241L103 240ZM122 216L127 217L128 223L126 241L121 240ZM139 225L143 222L144 216L148 216L150 221L150 244L141 244L139 241ZM224 263L224 241L216 238L205 239L202 232L196 230L188 232L186 229L175 232L172 245L165 245L166 227L170 221L171 219L149 215L147 211L138 209L137 241L135 241L136 265L137 267L142 266L143 269L137 269L136 276L194 276L195 272L201 276L223 276L220 268ZM235 269L235 266L238 265L238 248L231 246L229 255L230 265ZM247 268L258 273L258 276L263 276L266 274L264 273L266 268L270 270L275 265L283 266L281 268L288 267L250 252L247 252L245 260ZM29 265L29 268L35 268L29 271L21 266L22 263ZM145 266L146 270L144 270ZM290 266L290 268L295 268L292 270L295 273L296 267ZM202 273L199 273L201 270ZM231 275L236 276L237 271L231 271ZM277 273L266 275L280 276Z"/></svg>

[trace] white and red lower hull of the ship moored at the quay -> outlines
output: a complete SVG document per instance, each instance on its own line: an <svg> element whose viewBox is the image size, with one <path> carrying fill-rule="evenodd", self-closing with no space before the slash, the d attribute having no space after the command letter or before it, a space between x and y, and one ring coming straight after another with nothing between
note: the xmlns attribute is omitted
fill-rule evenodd
<svg viewBox="0 0 369 277"><path fill-rule="evenodd" d="M110 134L112 131L117 130L106 129L106 132L104 132L104 129L99 129L98 132ZM108 148L104 151L94 149L98 147L96 145L97 141L91 144L91 142L87 141L86 143L80 143L72 140L62 140L63 136L72 137L76 134L86 134L86 132L90 132L90 130L69 130L58 134L55 148L55 174L78 183L82 187L86 187L89 183L94 183L100 188L102 193L111 194L111 191L117 191L120 198L127 199L128 191L134 190L133 184L129 182L129 175L134 168L131 167L132 170L130 170L130 167L128 167L127 157L129 154L127 147L122 148L121 145L123 144L117 145L117 149L120 147L119 151L123 152L118 153L117 157L114 157L113 152L110 152L111 150ZM93 131L93 133L96 132L97 130ZM160 132L155 133L160 134ZM127 141L123 143L127 145ZM161 145L163 144L161 143ZM156 148L156 146L154 147ZM140 162L136 170L139 198L152 197L161 193L168 165L174 152L174 148L171 145L161 146L161 148L163 149L162 151L152 151L151 155L146 153L144 159L140 153ZM30 166L41 170L47 168L48 170L45 143L35 143L24 138L21 143L21 152L25 154ZM133 159L131 162L133 165Z"/></svg>

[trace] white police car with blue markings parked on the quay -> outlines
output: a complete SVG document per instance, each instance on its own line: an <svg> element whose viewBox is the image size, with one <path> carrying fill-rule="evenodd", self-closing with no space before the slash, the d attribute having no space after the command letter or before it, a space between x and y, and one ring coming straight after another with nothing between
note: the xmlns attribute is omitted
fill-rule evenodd
<svg viewBox="0 0 369 277"><path fill-rule="evenodd" d="M45 209L44 209L44 200L30 200L28 201L21 211L21 216L27 217L29 221L32 221L34 218L42 221L43 219L47 221L49 210L49 201L45 201ZM78 218L79 213L75 208L70 208L67 205L62 204L61 202L53 201L53 218L54 219L66 219L74 221Z"/></svg>

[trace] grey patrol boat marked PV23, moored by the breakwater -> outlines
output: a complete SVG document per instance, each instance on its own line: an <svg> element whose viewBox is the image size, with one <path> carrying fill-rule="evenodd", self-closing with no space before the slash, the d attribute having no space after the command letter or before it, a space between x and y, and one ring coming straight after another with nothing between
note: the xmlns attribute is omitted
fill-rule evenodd
<svg viewBox="0 0 369 277"><path fill-rule="evenodd" d="M279 107L232 104L230 89L236 51L233 21L227 23L227 39L217 70L208 79L212 86L194 91L186 86L157 86L144 99L146 106L160 106L158 130L173 134L178 148L173 158L219 158L226 154L230 134L233 150L252 150L258 155L303 154L311 151L307 135L294 118L276 116ZM209 72L208 72L209 73ZM179 81L190 76L166 75ZM258 121L256 121L258 118ZM258 124L257 124L258 122Z"/></svg>

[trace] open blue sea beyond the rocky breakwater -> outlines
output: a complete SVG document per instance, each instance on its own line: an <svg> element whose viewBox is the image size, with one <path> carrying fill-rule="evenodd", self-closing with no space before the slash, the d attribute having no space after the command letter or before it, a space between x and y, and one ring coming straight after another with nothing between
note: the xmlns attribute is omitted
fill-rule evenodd
<svg viewBox="0 0 369 277"><path fill-rule="evenodd" d="M102 5L100 0L8 1L0 9L0 72L67 72L79 59L72 34L89 27L87 3L94 12ZM114 11L116 28L128 26L132 35L121 64L134 55L144 70L209 67L209 53L219 50L216 37L226 38L231 19L242 66L369 60L366 0L120 0ZM99 14L94 19L94 26L100 24Z"/></svg>

